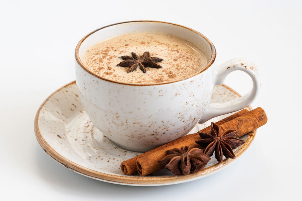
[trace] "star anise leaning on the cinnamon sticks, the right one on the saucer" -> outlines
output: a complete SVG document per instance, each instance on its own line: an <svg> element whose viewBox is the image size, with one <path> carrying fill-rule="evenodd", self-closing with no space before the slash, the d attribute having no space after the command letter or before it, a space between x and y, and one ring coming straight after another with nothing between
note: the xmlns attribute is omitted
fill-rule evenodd
<svg viewBox="0 0 302 201"><path fill-rule="evenodd" d="M222 155L226 158L235 158L233 149L245 143L244 140L239 140L233 137L237 133L237 130L226 130L221 133L220 127L212 122L211 133L199 133L201 140L195 142L200 144L204 149L204 154L212 156L215 151L215 158L218 162L222 161Z"/></svg>

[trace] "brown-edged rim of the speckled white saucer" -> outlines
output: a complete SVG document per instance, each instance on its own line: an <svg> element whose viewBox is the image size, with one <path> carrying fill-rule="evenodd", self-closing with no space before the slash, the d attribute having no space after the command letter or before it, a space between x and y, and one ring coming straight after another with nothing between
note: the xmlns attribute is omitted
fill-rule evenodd
<svg viewBox="0 0 302 201"><path fill-rule="evenodd" d="M66 159L62 155L60 155L58 152L56 152L43 138L42 133L39 128L39 117L40 117L40 111L42 110L43 106L49 101L49 99L59 92L60 90L63 90L69 85L76 84L76 81L72 81L67 83L66 85L60 87L56 91L50 94L43 103L38 108L38 111L36 113L35 119L34 119L34 132L35 136L37 138L38 143L42 147L42 149L50 155L54 160L59 162L61 165L65 166L66 168L75 171L79 174L82 174L84 176L97 179L100 181L105 181L109 183L115 183L115 184L123 184L123 185L136 185L136 186L159 186L159 185L169 185L169 184L179 184L187 181L193 181L202 177L209 176L210 174L213 174L217 171L220 171L221 169L225 168L226 166L230 165L231 162L239 158L240 155L242 155L246 149L249 148L252 141L255 138L255 134L257 130L252 131L249 133L249 136L246 139L246 143L244 143L235 153L236 158L235 159L225 159L221 163L216 163L215 165L212 165L210 167L204 168L200 172L188 174L188 175L175 175L175 176L159 176L159 177L141 177L141 176L132 176L132 175L116 175L116 174L108 174L103 173L99 171L95 171L89 168L85 168L82 165L79 165L75 162L70 161L69 159ZM241 95L233 90L231 87L222 84L222 86L226 87L227 89L231 90L233 93L241 97ZM250 111L252 110L252 107L249 105L247 109Z"/></svg>

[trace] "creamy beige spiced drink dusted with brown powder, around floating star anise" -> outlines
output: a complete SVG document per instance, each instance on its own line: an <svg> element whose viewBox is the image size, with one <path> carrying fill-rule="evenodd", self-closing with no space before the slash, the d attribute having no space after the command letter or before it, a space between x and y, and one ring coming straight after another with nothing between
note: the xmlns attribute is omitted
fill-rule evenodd
<svg viewBox="0 0 302 201"><path fill-rule="evenodd" d="M162 68L146 68L143 73L138 67L127 73L129 68L117 66L123 61L120 56L135 52L139 57L144 52L150 57L162 58L157 64ZM165 33L135 32L115 36L88 49L83 64L95 74L124 83L155 84L183 80L207 64L203 52L182 38Z"/></svg>

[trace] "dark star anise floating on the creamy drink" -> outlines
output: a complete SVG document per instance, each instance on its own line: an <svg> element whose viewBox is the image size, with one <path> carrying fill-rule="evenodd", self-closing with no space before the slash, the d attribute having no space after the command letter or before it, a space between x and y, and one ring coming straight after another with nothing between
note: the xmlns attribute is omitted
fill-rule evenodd
<svg viewBox="0 0 302 201"><path fill-rule="evenodd" d="M134 52L131 52L131 54L132 57L127 55L121 56L120 58L122 58L124 61L117 64L117 66L129 68L127 73L136 70L138 66L140 66L140 70L142 70L144 73L146 73L146 68L162 68L156 63L162 61L163 59L158 57L149 57L149 52L144 52L140 58Z"/></svg>

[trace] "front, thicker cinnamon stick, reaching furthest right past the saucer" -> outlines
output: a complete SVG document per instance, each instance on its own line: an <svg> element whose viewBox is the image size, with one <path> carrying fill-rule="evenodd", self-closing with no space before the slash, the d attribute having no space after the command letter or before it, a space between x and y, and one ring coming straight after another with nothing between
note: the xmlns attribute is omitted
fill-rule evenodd
<svg viewBox="0 0 302 201"><path fill-rule="evenodd" d="M256 108L252 111L247 112L231 121L227 121L221 124L220 127L222 132L226 130L237 130L236 137L241 137L246 133L249 133L260 126L263 126L267 122L267 116L262 108ZM210 129L203 129L201 132L210 133ZM196 134L196 133L195 133ZM164 167L158 163L165 155L167 155L166 150L172 148L180 148L181 146L187 145L189 147L195 146L195 140L200 139L198 133L197 135L192 135L188 140L183 140L182 143L175 143L166 146L163 149L153 149L148 154L137 159L137 171L140 176L146 176L153 172L159 171ZM168 143L169 144L169 143Z"/></svg>

